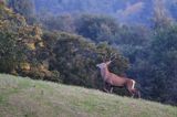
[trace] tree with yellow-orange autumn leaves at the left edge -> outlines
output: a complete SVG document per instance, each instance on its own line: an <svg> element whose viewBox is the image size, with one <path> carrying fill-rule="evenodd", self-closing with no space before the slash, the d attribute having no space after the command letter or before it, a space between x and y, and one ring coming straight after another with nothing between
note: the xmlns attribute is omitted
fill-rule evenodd
<svg viewBox="0 0 177 117"><path fill-rule="evenodd" d="M15 75L60 82L56 71L49 71L42 30L28 25L24 17L0 4L1 71ZM23 61L21 61L23 57ZM7 67L4 65L7 64Z"/></svg>

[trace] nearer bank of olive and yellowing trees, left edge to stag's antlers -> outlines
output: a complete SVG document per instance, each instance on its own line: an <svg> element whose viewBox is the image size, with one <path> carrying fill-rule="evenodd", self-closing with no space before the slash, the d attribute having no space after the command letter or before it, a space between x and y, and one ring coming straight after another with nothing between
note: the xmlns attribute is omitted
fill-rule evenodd
<svg viewBox="0 0 177 117"><path fill-rule="evenodd" d="M23 61L15 64L14 68L9 66L13 68L15 75L102 89L103 82L96 64L103 62L103 56L110 55L112 52L116 53L113 71L123 74L127 68L127 61L106 43L96 45L81 35L64 32L44 31L43 33L38 25L28 25L23 17L15 14L4 6L1 6L0 12L2 12L1 28L8 33L15 33L15 38L12 34L10 38L1 35L1 41L4 39L9 42L8 39L10 39L18 40L19 43L2 44L8 44L8 50L13 50L12 55L15 56L19 56L18 49L24 47ZM4 21L8 24L3 23ZM14 24L12 25L12 23ZM1 51L3 51L2 47ZM14 59L15 61L20 60L19 57ZM3 61L1 62L3 63ZM1 70L1 72L3 71ZM6 72L11 73L9 70Z"/></svg>

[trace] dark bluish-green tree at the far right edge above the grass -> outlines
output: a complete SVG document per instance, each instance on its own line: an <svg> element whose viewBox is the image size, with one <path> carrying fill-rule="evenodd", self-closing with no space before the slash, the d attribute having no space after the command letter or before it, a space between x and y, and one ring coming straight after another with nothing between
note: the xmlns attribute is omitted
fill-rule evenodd
<svg viewBox="0 0 177 117"><path fill-rule="evenodd" d="M154 64L154 92L160 102L176 102L177 25L156 32L152 43L150 63Z"/></svg>

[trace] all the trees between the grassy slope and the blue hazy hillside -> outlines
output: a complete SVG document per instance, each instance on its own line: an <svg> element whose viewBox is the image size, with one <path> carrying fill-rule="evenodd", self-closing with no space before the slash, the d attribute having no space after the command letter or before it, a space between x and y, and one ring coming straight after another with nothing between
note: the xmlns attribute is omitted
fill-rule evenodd
<svg viewBox="0 0 177 117"><path fill-rule="evenodd" d="M12 1L21 0L7 6L25 19L1 6L1 72L101 88L95 64L114 52L117 59L111 70L137 81L143 98L177 105L177 23L158 0L150 26L122 24L101 14L39 15L29 0ZM4 49L7 40L11 46Z"/></svg>

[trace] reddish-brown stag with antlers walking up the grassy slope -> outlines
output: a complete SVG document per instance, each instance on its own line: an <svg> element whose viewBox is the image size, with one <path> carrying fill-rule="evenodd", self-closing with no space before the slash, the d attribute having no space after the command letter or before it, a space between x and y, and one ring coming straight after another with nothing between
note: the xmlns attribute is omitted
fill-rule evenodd
<svg viewBox="0 0 177 117"><path fill-rule="evenodd" d="M140 93L135 88L135 81L127 77L118 76L108 71L108 65L116 59L116 54L110 57L110 61L97 64L96 66L101 70L101 75L104 81L104 91L107 93L113 92L113 86L126 87L126 89L131 93L132 97L137 95L140 98ZM110 89L107 89L107 86Z"/></svg>

